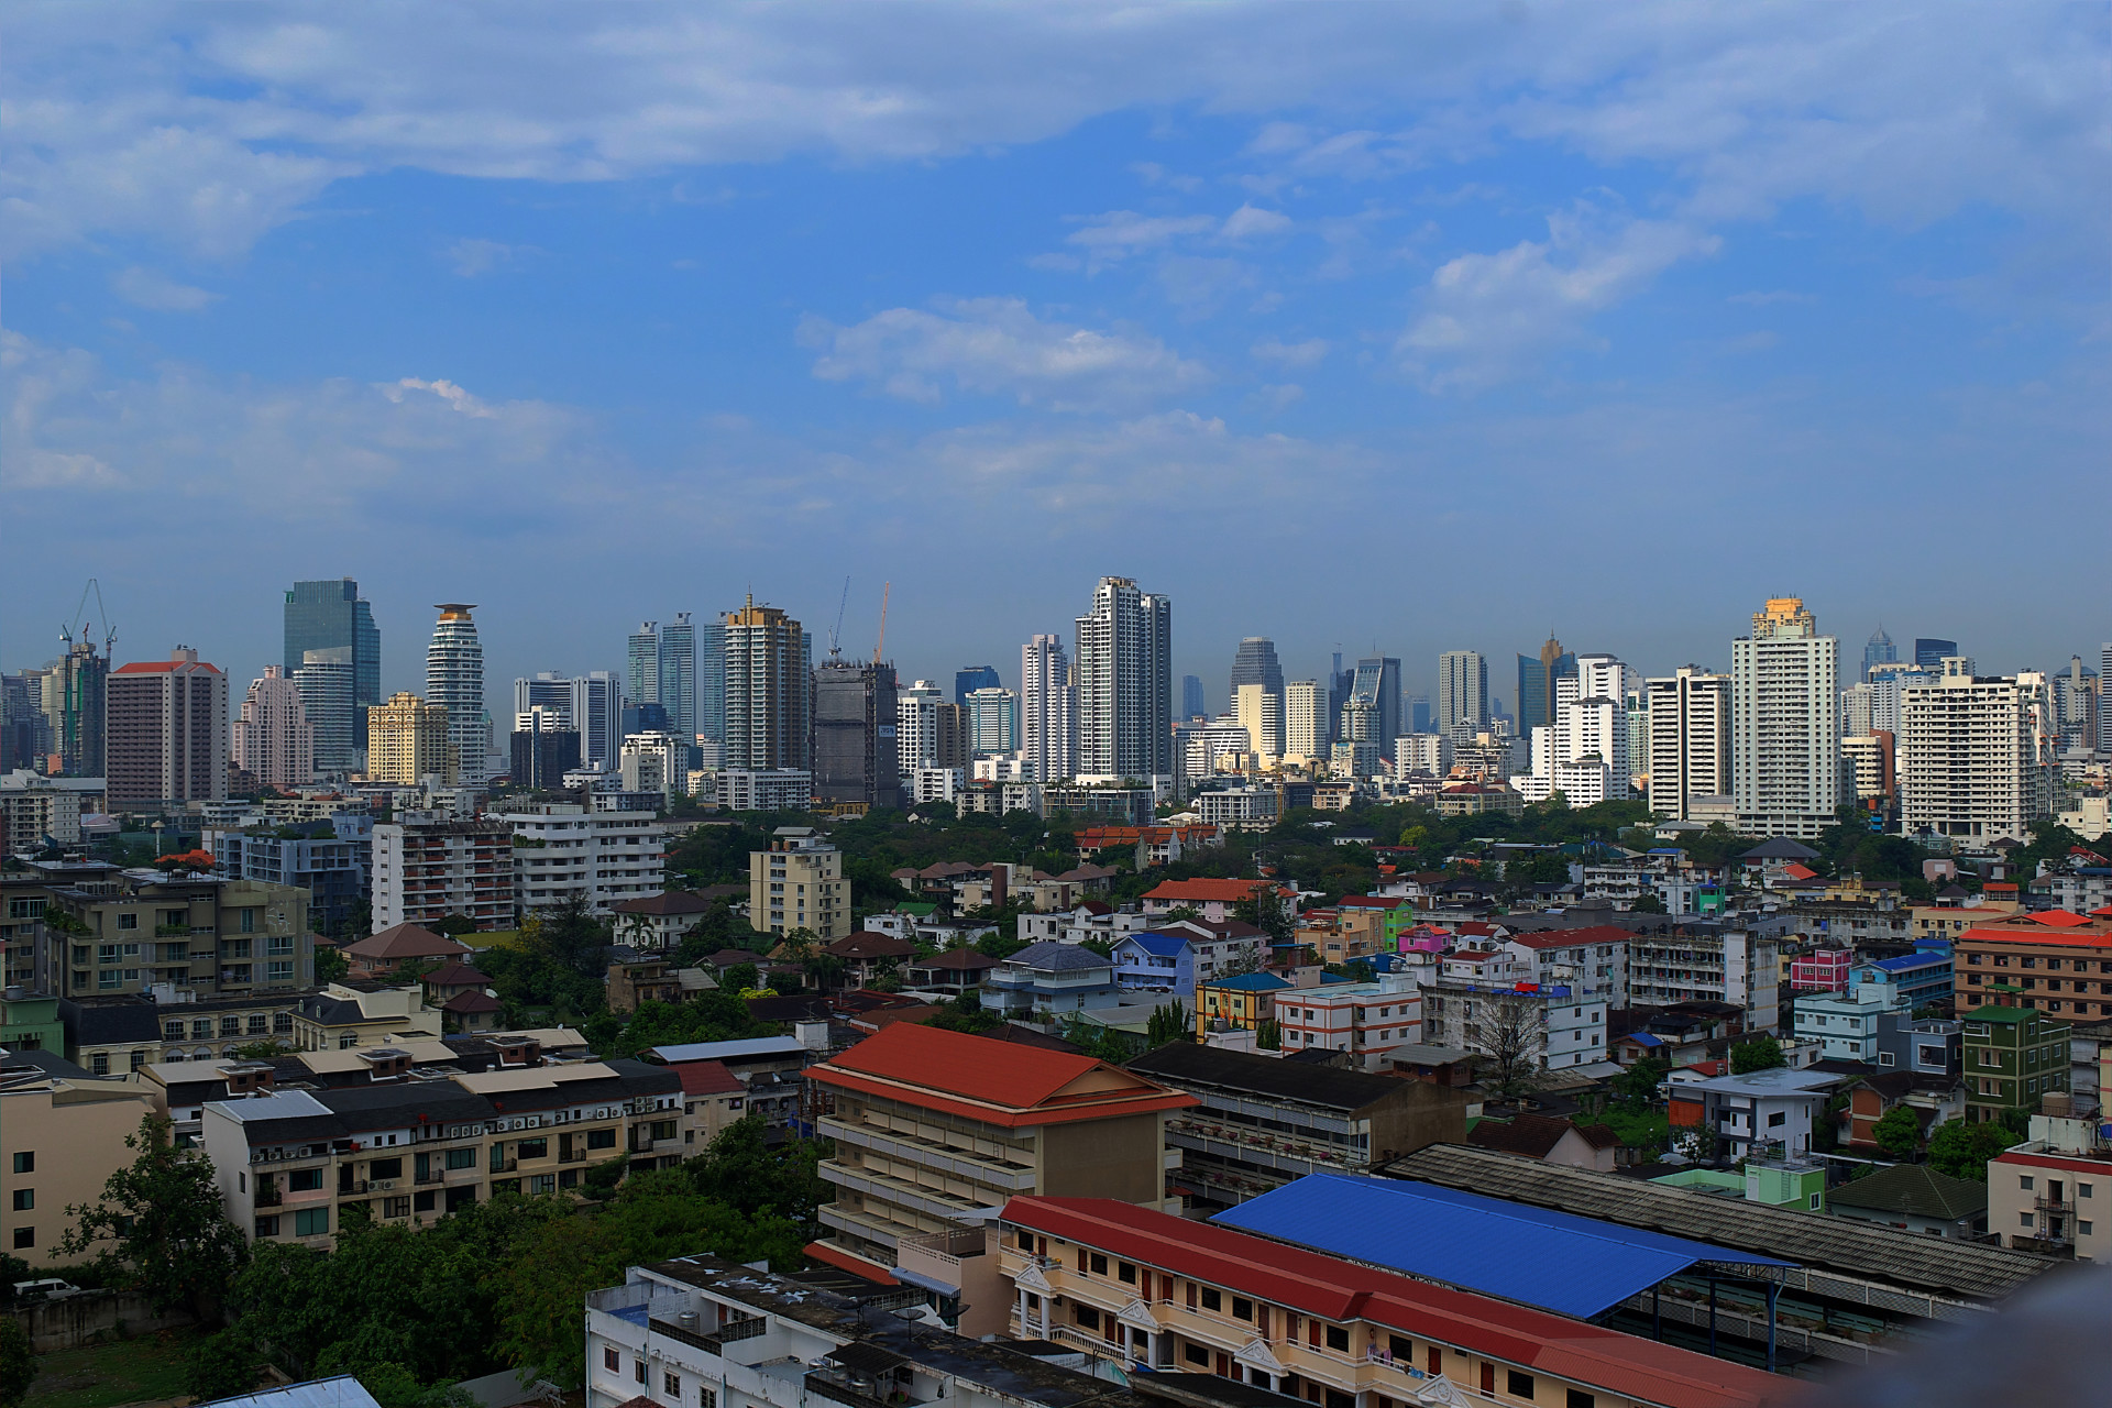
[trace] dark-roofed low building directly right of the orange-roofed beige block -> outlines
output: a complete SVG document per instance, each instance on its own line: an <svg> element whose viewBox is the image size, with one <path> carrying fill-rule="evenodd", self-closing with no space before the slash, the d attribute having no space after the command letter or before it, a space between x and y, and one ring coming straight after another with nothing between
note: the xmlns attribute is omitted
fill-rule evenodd
<svg viewBox="0 0 2112 1408"><path fill-rule="evenodd" d="M1369 1174L1466 1136L1466 1100L1440 1085L1170 1041L1130 1070L1202 1104L1166 1117L1189 1199L1240 1203L1305 1174Z"/></svg>

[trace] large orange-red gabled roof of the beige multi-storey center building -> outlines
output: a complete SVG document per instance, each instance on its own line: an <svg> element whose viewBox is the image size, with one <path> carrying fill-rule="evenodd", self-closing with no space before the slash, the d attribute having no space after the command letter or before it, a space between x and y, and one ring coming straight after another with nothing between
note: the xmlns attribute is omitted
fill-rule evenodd
<svg viewBox="0 0 2112 1408"><path fill-rule="evenodd" d="M1092 1055L908 1022L809 1066L807 1079L1012 1129L1200 1104Z"/></svg>

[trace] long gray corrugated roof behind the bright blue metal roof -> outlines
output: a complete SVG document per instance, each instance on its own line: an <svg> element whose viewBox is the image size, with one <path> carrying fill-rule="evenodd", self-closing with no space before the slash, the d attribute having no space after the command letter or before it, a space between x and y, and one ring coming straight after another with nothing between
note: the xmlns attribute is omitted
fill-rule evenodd
<svg viewBox="0 0 2112 1408"><path fill-rule="evenodd" d="M1848 1218L1821 1218L1620 1174L1516 1159L1468 1144L1430 1144L1394 1159L1383 1174L1742 1252L1766 1252L1806 1269L1962 1300L2000 1300L2057 1264L2030 1252L1903 1233Z"/></svg>

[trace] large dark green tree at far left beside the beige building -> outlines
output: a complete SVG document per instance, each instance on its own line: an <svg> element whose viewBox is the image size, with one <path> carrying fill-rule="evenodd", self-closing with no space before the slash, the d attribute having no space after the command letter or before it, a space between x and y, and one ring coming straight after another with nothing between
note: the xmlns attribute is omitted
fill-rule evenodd
<svg viewBox="0 0 2112 1408"><path fill-rule="evenodd" d="M125 1146L137 1157L110 1176L101 1201L65 1210L74 1229L59 1252L95 1256L156 1313L188 1305L203 1317L247 1260L243 1231L222 1212L213 1161L177 1148L158 1115L142 1119Z"/></svg>

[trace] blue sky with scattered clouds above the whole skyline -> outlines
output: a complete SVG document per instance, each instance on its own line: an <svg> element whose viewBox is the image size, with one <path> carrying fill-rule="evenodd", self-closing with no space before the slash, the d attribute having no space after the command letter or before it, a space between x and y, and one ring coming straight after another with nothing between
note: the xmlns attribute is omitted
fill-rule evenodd
<svg viewBox="0 0 2112 1408"><path fill-rule="evenodd" d="M8 8L0 669L2112 640L2106 6Z"/></svg>

